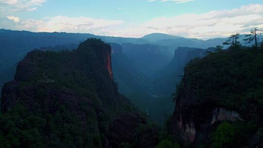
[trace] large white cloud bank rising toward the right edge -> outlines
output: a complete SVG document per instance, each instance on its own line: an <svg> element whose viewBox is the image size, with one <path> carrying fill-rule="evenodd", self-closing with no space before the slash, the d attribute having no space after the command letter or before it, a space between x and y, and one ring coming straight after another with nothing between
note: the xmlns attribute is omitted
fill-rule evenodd
<svg viewBox="0 0 263 148"><path fill-rule="evenodd" d="M231 33L245 33L252 27L263 27L263 5L250 4L238 9L211 11L203 14L184 14L161 17L124 30L114 36L142 37L158 32L196 38L225 37Z"/></svg>

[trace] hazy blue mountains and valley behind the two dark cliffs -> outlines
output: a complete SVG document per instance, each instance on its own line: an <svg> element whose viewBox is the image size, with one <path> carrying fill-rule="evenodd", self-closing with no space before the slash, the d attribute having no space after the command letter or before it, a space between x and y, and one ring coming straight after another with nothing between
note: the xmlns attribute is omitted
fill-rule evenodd
<svg viewBox="0 0 263 148"><path fill-rule="evenodd" d="M184 66L190 59L202 57L205 49L222 45L227 39L202 40L161 33L141 38L107 37L0 29L0 91L5 82L13 79L17 63L28 52L34 49L72 50L87 38L101 38L110 43L113 76L119 91L143 111L147 110L149 114L159 113L156 120L160 123L164 119L162 113L173 111L170 108L173 107L171 101L164 99L171 99L170 94L174 92L175 84L180 80L180 76L174 75L183 74ZM244 35L241 36L240 42L245 45L243 38ZM162 108L158 108L161 104Z"/></svg>

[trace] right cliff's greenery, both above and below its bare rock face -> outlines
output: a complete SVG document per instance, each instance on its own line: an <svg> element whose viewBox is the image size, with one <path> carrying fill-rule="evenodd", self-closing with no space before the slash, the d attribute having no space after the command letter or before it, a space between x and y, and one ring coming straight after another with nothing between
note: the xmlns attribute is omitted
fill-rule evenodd
<svg viewBox="0 0 263 148"><path fill-rule="evenodd" d="M230 49L191 60L177 87L177 92L191 91L200 104L241 114L243 121L223 122L214 130L207 142L214 148L247 146L263 128L263 48Z"/></svg>

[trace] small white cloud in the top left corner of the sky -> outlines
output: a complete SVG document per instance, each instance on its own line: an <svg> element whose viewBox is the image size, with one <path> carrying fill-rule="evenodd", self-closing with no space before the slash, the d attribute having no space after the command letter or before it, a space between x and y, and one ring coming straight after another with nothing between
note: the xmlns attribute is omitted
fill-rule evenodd
<svg viewBox="0 0 263 148"><path fill-rule="evenodd" d="M46 0L0 0L0 8L5 11L34 11Z"/></svg>

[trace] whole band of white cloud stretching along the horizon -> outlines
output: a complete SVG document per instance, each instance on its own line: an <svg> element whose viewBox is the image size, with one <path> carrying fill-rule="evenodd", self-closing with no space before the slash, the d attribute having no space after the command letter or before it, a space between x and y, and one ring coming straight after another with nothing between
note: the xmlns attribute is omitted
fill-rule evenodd
<svg viewBox="0 0 263 148"><path fill-rule="evenodd" d="M56 16L36 20L9 16L6 20L0 20L0 28L2 27L34 32L76 32L118 37L142 37L157 32L207 39L226 37L237 32L247 33L252 27L263 28L263 5L250 4L232 10L161 17L136 25L129 25L122 20L87 17Z"/></svg>

